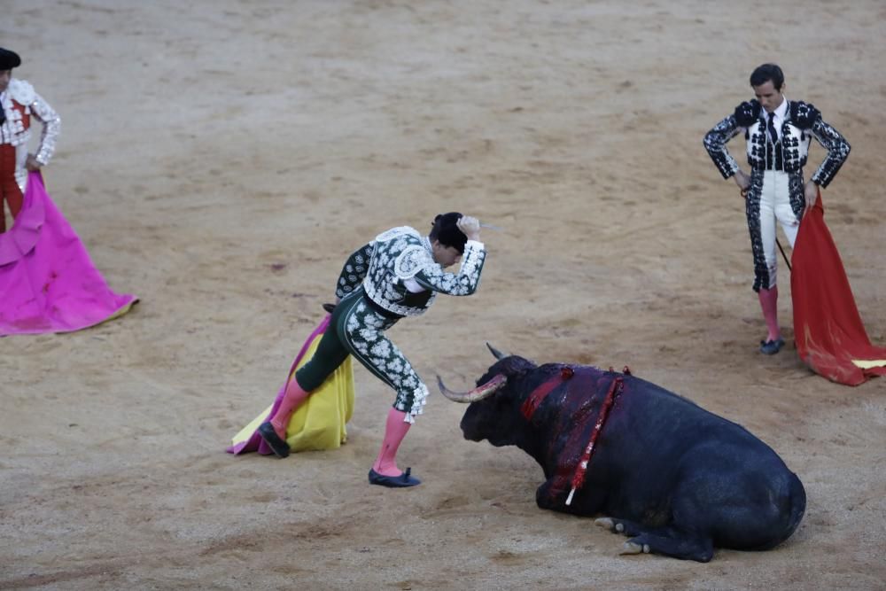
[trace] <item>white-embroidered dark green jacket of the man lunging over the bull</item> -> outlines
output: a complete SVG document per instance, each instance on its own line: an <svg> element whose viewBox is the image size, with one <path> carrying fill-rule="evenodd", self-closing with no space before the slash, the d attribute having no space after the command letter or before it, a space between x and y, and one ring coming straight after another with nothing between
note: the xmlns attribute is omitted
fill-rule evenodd
<svg viewBox="0 0 886 591"><path fill-rule="evenodd" d="M344 298L360 285L366 296L399 316L422 315L437 293L470 295L477 291L486 260L482 242L468 240L458 273L434 261L431 241L408 226L389 229L357 249L338 276L336 295Z"/></svg>

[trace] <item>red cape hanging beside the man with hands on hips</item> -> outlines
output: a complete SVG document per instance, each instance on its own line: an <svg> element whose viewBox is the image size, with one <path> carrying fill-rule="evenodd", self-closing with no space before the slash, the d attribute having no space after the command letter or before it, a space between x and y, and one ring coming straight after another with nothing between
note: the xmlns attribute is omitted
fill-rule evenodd
<svg viewBox="0 0 886 591"><path fill-rule="evenodd" d="M824 214L819 194L800 223L791 257L797 353L821 376L859 385L886 375L886 347L872 346L867 338Z"/></svg>

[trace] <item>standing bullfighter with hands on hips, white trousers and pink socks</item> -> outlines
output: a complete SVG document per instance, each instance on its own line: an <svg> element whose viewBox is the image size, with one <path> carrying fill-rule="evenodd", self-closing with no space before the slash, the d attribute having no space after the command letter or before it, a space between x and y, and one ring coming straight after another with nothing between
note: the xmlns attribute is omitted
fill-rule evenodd
<svg viewBox="0 0 886 591"><path fill-rule="evenodd" d="M760 351L774 354L784 344L776 314L775 220L793 246L804 211L814 204L819 187L827 187L834 179L849 156L850 145L814 106L784 97L784 74L778 66L759 66L750 76L750 85L757 99L735 107L734 113L704 136L704 147L723 178L734 176L746 197L754 255L753 289L758 292L769 331ZM727 142L742 132L750 176L726 148ZM803 167L813 137L828 156L804 185Z"/></svg>

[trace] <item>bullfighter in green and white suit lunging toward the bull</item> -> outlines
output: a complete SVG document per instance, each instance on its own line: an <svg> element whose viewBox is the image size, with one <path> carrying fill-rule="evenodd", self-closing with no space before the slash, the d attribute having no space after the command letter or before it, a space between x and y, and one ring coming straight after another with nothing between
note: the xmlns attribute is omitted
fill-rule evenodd
<svg viewBox="0 0 886 591"><path fill-rule="evenodd" d="M447 272L459 258L458 272ZM423 315L438 293L476 292L485 260L479 222L458 213L438 215L428 236L401 226L356 250L338 277L338 304L330 328L311 360L290 381L276 414L259 427L274 453L289 455L285 439L290 416L351 354L397 393L369 482L392 487L419 484L409 469L397 468L395 456L409 426L422 414L428 388L385 331L401 318Z"/></svg>

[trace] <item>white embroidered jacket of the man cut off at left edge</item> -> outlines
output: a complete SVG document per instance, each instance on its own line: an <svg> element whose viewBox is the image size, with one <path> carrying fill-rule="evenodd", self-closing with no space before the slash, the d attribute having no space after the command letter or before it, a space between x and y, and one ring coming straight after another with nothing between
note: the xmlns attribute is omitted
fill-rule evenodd
<svg viewBox="0 0 886 591"><path fill-rule="evenodd" d="M6 121L0 125L0 144L15 147L15 180L21 192L27 183L27 144L31 139L31 117L43 123L43 134L35 158L42 165L49 163L55 152L56 138L61 130L61 118L49 103L38 95L27 81L12 78L6 91L0 95Z"/></svg>

